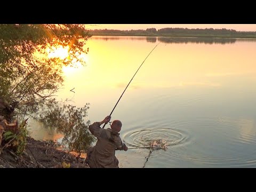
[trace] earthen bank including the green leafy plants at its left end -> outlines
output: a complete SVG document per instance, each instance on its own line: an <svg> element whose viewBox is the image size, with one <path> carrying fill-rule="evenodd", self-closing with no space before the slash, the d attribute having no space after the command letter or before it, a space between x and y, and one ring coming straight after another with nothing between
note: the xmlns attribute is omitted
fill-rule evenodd
<svg viewBox="0 0 256 192"><path fill-rule="evenodd" d="M68 151L57 141L35 140L26 124L0 115L0 168L89 168L86 154Z"/></svg>

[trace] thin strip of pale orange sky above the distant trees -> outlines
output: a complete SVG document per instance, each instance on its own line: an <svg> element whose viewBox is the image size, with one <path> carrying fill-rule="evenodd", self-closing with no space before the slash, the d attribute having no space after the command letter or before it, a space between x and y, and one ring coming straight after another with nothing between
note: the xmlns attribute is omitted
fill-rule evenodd
<svg viewBox="0 0 256 192"><path fill-rule="evenodd" d="M235 29L237 31L256 31L256 24L90 24L87 28L90 29L147 29L147 28L166 28L166 27L179 27L179 28L214 28L214 29Z"/></svg>

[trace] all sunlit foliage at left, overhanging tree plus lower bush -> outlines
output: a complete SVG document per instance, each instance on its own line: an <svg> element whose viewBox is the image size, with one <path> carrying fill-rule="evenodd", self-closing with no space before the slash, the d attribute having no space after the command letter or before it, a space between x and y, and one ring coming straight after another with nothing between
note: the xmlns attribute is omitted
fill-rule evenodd
<svg viewBox="0 0 256 192"><path fill-rule="evenodd" d="M12 109L7 110L8 117L22 119L29 114L45 119L45 123L66 132L63 141L71 149L83 150L91 145L89 122L83 122L87 107L75 109L54 98L63 84L62 67L75 62L85 65L81 55L89 51L85 44L90 36L80 24L1 24L0 101L5 105L0 105L0 115L6 118L4 110ZM68 47L68 57L50 58L49 53L59 46ZM15 114L10 115L14 109ZM26 125L21 124L20 134L5 132L4 137L19 141L17 152L22 153L26 135Z"/></svg>

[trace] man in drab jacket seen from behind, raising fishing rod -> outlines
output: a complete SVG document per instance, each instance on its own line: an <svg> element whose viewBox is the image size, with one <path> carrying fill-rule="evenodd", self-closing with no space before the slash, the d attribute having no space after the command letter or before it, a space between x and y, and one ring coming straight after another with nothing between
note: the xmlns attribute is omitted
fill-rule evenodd
<svg viewBox="0 0 256 192"><path fill-rule="evenodd" d="M86 163L91 168L118 168L118 159L115 156L115 151L125 150L127 146L122 142L119 137L122 123L115 120L111 124L111 129L102 129L100 125L108 123L110 116L107 116L101 122L94 122L89 126L89 131L97 137L97 143L94 147L89 147L87 150Z"/></svg>

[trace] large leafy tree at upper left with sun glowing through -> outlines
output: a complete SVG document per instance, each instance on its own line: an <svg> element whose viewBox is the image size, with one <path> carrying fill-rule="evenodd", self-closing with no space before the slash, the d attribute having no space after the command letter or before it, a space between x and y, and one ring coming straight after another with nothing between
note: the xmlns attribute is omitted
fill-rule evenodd
<svg viewBox="0 0 256 192"><path fill-rule="evenodd" d="M90 36L80 24L1 24L0 116L11 120L15 109L16 115L42 119L58 108L54 94L63 83L61 68L75 62L85 65L80 56L89 51L85 44ZM49 52L58 47L67 48L67 57L50 58ZM6 108L9 114L4 113Z"/></svg>

